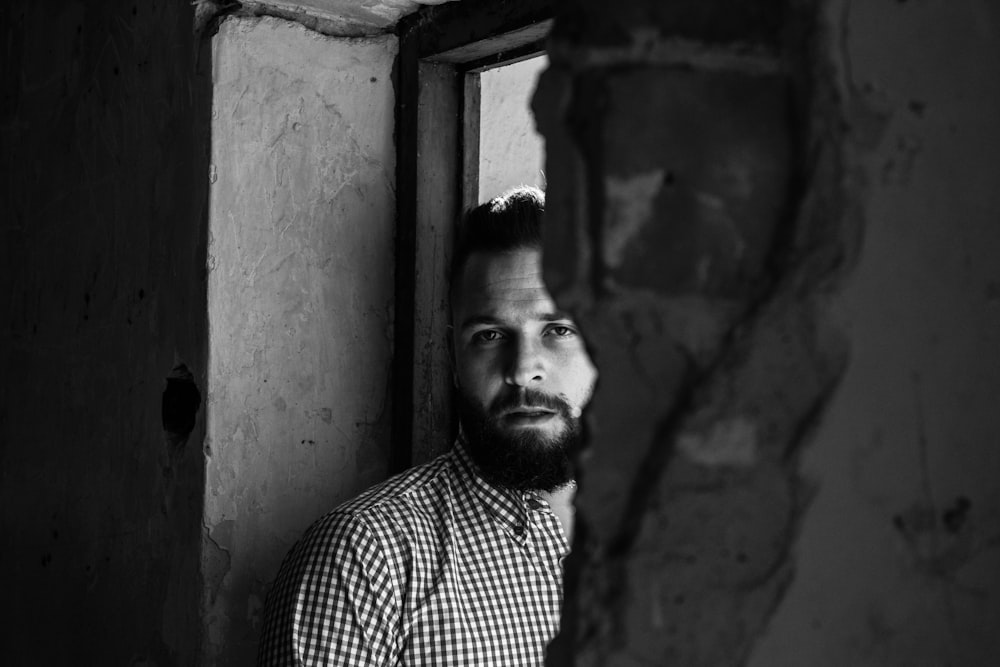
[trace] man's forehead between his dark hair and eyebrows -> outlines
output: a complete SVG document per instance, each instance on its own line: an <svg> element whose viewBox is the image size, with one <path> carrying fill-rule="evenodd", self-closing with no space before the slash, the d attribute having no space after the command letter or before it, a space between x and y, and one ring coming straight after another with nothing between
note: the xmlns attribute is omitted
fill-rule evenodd
<svg viewBox="0 0 1000 667"><path fill-rule="evenodd" d="M552 298L542 282L541 252L524 248L469 256L454 291L452 309L461 321L470 315L548 312Z"/></svg>

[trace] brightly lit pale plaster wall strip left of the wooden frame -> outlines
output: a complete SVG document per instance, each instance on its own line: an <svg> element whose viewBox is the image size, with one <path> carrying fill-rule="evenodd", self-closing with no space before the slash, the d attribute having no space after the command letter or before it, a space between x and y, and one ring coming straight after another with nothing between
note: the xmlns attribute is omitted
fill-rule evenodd
<svg viewBox="0 0 1000 667"><path fill-rule="evenodd" d="M386 474L395 38L213 41L206 664L249 664L281 558Z"/></svg>

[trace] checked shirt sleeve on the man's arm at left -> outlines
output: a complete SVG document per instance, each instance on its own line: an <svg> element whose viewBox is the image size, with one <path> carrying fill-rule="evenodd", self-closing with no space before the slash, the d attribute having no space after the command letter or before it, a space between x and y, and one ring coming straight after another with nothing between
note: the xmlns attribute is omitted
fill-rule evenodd
<svg viewBox="0 0 1000 667"><path fill-rule="evenodd" d="M257 664L393 665L398 619L379 540L363 517L335 512L285 557L265 605Z"/></svg>

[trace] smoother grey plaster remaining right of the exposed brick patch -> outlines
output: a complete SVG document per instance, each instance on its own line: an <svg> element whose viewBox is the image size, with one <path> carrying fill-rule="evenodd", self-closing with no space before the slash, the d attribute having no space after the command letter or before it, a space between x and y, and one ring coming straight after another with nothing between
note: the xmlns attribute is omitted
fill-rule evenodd
<svg viewBox="0 0 1000 667"><path fill-rule="evenodd" d="M802 474L796 575L752 667L1000 654L1000 6L852 2L838 23L866 184L831 303L851 364Z"/></svg>

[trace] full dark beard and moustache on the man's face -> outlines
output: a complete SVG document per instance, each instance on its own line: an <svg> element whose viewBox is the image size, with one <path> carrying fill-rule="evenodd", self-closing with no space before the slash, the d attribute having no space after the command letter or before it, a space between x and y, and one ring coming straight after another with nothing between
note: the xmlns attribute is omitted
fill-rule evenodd
<svg viewBox="0 0 1000 667"><path fill-rule="evenodd" d="M459 420L469 457L483 478L514 491L554 491L573 480L570 455L580 443L580 420L569 403L534 389L504 393L483 409L459 389ZM562 428L555 434L504 424L504 412L530 405L555 411Z"/></svg>

